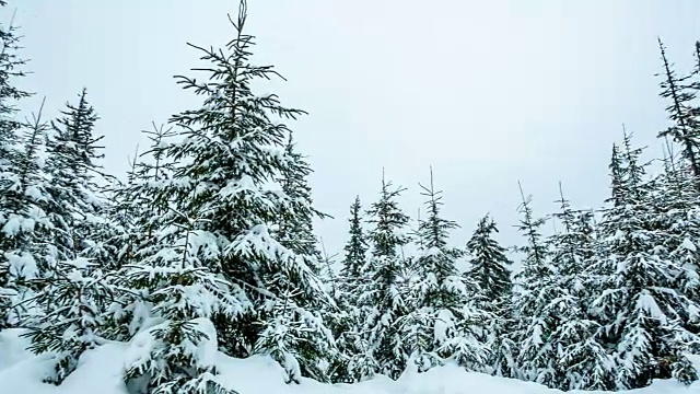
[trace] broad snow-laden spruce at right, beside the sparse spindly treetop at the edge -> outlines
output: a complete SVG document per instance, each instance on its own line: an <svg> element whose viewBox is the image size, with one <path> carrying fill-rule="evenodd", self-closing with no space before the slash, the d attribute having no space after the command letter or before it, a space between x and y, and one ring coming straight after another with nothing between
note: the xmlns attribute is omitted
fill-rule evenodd
<svg viewBox="0 0 700 394"><path fill-rule="evenodd" d="M622 165L625 204L604 211L600 222L604 258L592 271L600 278L593 311L615 349L618 389L649 385L672 375L685 383L697 372L682 354L682 316L697 305L676 290L682 273L666 248L668 234L656 220L652 184L643 181L641 149L631 149L626 134Z"/></svg>

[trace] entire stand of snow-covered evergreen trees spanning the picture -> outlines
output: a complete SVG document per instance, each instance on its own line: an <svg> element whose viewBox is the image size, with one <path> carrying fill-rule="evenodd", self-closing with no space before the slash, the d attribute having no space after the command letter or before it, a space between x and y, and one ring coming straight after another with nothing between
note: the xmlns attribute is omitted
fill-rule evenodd
<svg viewBox="0 0 700 394"><path fill-rule="evenodd" d="M289 384L446 362L562 391L698 380L700 42L693 69L678 71L660 39L666 154L643 161L626 130L599 208L562 190L542 215L521 188L521 221L503 223L517 225L518 246L499 244L487 215L459 223L472 232L455 248L432 173L417 228L398 204L406 189L382 178L373 201L348 201L331 258L293 139L305 112L254 89L281 74L253 61L246 18L242 1L224 48L190 44L202 66L175 83L201 105L147 131L127 174L102 167L86 89L58 118L19 115L40 92L16 88L31 78L21 34L0 25L0 331L22 329L51 358L46 384L109 341L129 346L133 394L231 393L218 351L268 355Z"/></svg>

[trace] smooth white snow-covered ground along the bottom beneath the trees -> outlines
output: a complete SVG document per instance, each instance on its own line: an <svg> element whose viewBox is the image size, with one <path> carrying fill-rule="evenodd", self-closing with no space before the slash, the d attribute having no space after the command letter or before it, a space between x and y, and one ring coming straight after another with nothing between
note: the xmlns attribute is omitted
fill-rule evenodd
<svg viewBox="0 0 700 394"><path fill-rule="evenodd" d="M0 333L0 393L2 394L126 394L121 382L126 345L108 344L86 352L61 386L42 382L51 364L47 356L25 350L21 332ZM240 360L219 355L224 384L240 394L549 394L558 391L516 380L465 372L456 366L435 368L425 373L405 373L398 381L376 378L357 384L322 384L305 380L288 385L283 371L272 360L252 357ZM690 387L675 381L660 381L637 390L638 394L700 393L700 382Z"/></svg>

